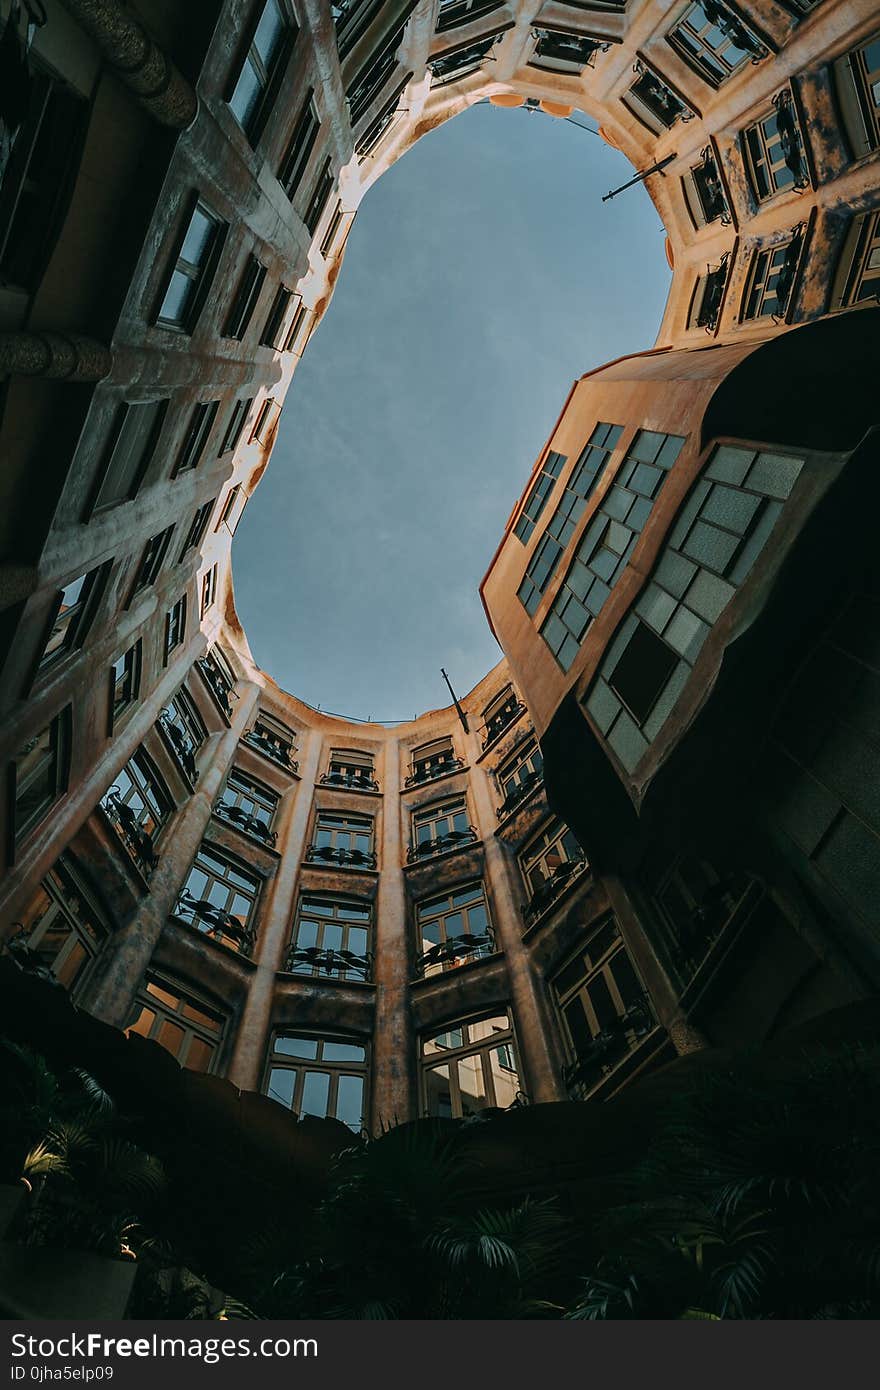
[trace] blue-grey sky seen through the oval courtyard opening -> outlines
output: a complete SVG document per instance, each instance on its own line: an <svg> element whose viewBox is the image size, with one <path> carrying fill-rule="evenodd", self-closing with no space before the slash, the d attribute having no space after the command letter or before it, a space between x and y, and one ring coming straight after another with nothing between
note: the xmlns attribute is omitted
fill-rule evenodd
<svg viewBox="0 0 880 1390"><path fill-rule="evenodd" d="M580 120L585 120L580 117ZM257 663L382 723L500 656L478 585L571 382L649 348L660 220L598 136L487 104L370 189L232 548Z"/></svg>

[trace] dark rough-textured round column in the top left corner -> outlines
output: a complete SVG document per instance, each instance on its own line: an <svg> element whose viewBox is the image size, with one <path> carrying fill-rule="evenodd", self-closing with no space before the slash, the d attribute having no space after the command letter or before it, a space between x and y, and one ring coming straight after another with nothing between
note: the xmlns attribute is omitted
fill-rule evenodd
<svg viewBox="0 0 880 1390"><path fill-rule="evenodd" d="M199 110L196 93L120 0L61 0L61 4L156 121L178 131L192 125Z"/></svg>

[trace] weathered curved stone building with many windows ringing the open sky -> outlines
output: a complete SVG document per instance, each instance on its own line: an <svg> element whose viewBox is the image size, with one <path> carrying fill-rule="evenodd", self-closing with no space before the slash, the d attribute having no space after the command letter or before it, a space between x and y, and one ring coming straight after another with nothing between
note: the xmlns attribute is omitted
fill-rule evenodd
<svg viewBox="0 0 880 1390"><path fill-rule="evenodd" d="M0 19L14 959L371 1130L608 1097L874 992L876 6ZM670 296L512 513L506 660L352 724L256 667L231 539L364 190L480 100L601 124Z"/></svg>

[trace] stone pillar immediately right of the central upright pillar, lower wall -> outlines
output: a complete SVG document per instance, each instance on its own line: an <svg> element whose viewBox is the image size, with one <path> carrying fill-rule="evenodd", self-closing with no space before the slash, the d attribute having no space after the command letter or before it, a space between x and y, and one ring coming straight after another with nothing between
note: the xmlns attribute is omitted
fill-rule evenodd
<svg viewBox="0 0 880 1390"><path fill-rule="evenodd" d="M492 895L495 940L503 951L510 1004L520 1051L523 1090L534 1102L564 1099L559 1059L551 1042L548 1008L523 942L519 876L495 835L495 791L487 770L477 764L480 742L470 734L470 792L475 828L484 845L487 887Z"/></svg>

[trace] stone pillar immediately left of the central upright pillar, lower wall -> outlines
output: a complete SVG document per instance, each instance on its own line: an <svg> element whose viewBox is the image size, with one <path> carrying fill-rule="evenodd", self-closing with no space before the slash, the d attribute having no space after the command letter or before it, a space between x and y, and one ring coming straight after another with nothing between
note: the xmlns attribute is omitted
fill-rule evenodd
<svg viewBox="0 0 880 1390"><path fill-rule="evenodd" d="M311 796L318 770L321 734L309 730L298 749L300 781L285 795L285 806L278 823L277 847L281 853L278 873L267 888L257 922L257 969L252 976L247 998L235 1037L235 1049L227 1077L242 1091L259 1091L263 1062L268 1047L275 999L275 974L281 969L284 949L293 920L293 899L299 866L306 851L306 833L311 813Z"/></svg>

